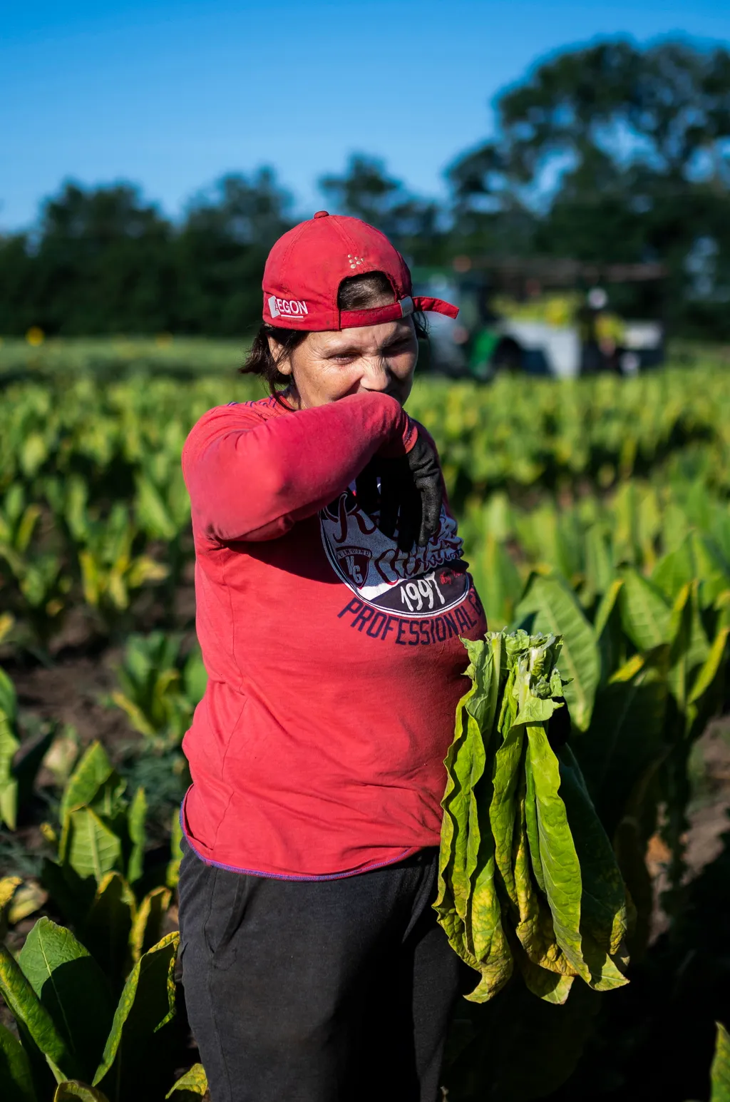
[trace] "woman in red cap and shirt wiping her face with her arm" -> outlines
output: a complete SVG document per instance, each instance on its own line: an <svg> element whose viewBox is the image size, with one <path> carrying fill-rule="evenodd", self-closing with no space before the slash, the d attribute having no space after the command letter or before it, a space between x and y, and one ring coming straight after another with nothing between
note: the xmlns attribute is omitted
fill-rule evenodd
<svg viewBox="0 0 730 1102"><path fill-rule="evenodd" d="M271 397L183 452L209 678L184 742L189 1020L213 1102L434 1102L461 966L432 909L443 759L486 623L403 403L414 309L456 310L324 210L263 292L246 369Z"/></svg>

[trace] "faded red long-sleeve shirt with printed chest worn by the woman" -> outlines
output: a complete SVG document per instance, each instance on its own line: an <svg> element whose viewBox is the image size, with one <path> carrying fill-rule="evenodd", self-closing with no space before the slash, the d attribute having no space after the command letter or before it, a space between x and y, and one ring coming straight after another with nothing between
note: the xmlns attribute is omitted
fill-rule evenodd
<svg viewBox="0 0 730 1102"><path fill-rule="evenodd" d="M417 431L363 393L220 407L187 439L208 687L183 743L183 823L208 862L329 878L438 843L459 636L487 625L448 512L404 554L350 488Z"/></svg>

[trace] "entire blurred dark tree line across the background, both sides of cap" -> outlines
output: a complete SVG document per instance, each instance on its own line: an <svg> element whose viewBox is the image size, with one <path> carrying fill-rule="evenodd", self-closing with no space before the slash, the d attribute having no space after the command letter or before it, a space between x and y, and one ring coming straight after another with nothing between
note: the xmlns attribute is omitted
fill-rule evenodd
<svg viewBox="0 0 730 1102"><path fill-rule="evenodd" d="M535 66L494 112L493 137L447 170L446 201L356 154L320 179L324 205L379 226L421 267L661 262L674 332L730 338L730 52L598 42ZM178 223L132 185L66 183L29 231L0 237L0 333L239 336L295 220L266 168L222 177ZM645 312L645 290L621 305Z"/></svg>

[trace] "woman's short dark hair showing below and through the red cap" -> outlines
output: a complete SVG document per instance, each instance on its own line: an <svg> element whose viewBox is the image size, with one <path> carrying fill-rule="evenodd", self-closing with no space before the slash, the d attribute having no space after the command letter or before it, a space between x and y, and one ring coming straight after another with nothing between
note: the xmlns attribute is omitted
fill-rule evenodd
<svg viewBox="0 0 730 1102"><path fill-rule="evenodd" d="M368 310L370 306L377 306L379 301L386 295L395 298L391 281L384 272L349 276L342 280L337 291L337 306L339 310ZM416 313L412 316L416 336L418 339L424 339L426 324L423 314ZM291 379L279 370L279 365L294 352L297 345L302 344L309 332L309 329L279 328L262 322L239 371L241 375L259 375L268 385L271 396L277 398L276 388L286 387L291 382ZM273 337L280 346L275 356L269 347L269 337Z"/></svg>

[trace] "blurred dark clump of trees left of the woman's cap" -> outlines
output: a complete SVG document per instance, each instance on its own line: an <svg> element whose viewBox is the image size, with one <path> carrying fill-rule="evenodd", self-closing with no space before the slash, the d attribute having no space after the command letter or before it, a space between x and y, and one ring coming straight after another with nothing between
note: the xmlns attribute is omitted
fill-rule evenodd
<svg viewBox="0 0 730 1102"><path fill-rule="evenodd" d="M129 184L67 183L32 233L0 239L0 332L238 336L260 316L290 203L261 169L225 176L174 227Z"/></svg>

